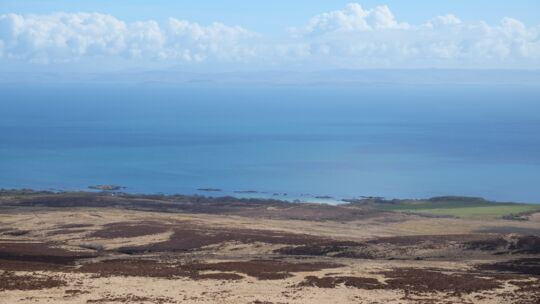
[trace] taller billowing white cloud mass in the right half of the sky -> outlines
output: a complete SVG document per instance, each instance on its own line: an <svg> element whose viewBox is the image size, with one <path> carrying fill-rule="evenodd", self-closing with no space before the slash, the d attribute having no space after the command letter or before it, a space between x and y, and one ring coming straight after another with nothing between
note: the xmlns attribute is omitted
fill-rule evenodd
<svg viewBox="0 0 540 304"><path fill-rule="evenodd" d="M291 32L310 59L333 67L540 67L540 27L504 18L498 25L437 16L420 25L396 20L387 6L314 16ZM325 52L318 52L321 45Z"/></svg>

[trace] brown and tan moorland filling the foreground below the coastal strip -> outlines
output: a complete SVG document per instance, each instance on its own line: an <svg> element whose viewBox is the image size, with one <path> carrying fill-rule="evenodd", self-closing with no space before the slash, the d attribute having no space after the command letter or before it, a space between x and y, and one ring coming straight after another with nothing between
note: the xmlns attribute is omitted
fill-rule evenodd
<svg viewBox="0 0 540 304"><path fill-rule="evenodd" d="M92 193L0 198L0 303L540 303L540 217Z"/></svg>

